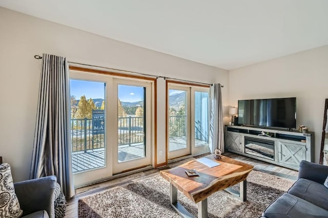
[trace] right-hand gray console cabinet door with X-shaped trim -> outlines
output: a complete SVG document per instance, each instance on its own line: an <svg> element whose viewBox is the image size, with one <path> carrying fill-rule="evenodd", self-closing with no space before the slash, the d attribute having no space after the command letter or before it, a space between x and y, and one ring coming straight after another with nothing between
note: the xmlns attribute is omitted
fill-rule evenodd
<svg viewBox="0 0 328 218"><path fill-rule="evenodd" d="M299 167L306 159L306 147L301 144L278 141L278 162Z"/></svg>

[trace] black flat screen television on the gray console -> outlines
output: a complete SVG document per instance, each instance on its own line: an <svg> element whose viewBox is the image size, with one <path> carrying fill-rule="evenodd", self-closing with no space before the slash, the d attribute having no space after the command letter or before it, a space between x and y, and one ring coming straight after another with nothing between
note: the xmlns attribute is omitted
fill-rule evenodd
<svg viewBox="0 0 328 218"><path fill-rule="evenodd" d="M296 98L239 100L238 125L296 128Z"/></svg>

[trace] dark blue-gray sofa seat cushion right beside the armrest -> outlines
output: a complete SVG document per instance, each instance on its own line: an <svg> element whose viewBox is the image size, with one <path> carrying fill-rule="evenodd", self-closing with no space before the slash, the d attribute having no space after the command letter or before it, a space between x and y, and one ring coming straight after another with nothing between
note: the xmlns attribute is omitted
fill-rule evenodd
<svg viewBox="0 0 328 218"><path fill-rule="evenodd" d="M288 193L328 210L328 188L322 184L308 179L298 179Z"/></svg>

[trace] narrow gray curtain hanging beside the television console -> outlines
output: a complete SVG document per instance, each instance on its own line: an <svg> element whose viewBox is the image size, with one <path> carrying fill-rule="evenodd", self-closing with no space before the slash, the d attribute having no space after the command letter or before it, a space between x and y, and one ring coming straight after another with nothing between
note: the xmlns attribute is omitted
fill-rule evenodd
<svg viewBox="0 0 328 218"><path fill-rule="evenodd" d="M210 89L210 150L215 149L224 152L224 126L222 111L221 85L212 84Z"/></svg>

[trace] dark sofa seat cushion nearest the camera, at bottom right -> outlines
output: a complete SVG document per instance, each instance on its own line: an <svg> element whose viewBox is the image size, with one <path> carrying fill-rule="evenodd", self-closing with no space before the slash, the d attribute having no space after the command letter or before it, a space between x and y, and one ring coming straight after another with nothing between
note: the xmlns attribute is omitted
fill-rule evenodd
<svg viewBox="0 0 328 218"><path fill-rule="evenodd" d="M267 207L262 215L268 218L312 218L328 217L328 211L289 193L284 193Z"/></svg>

